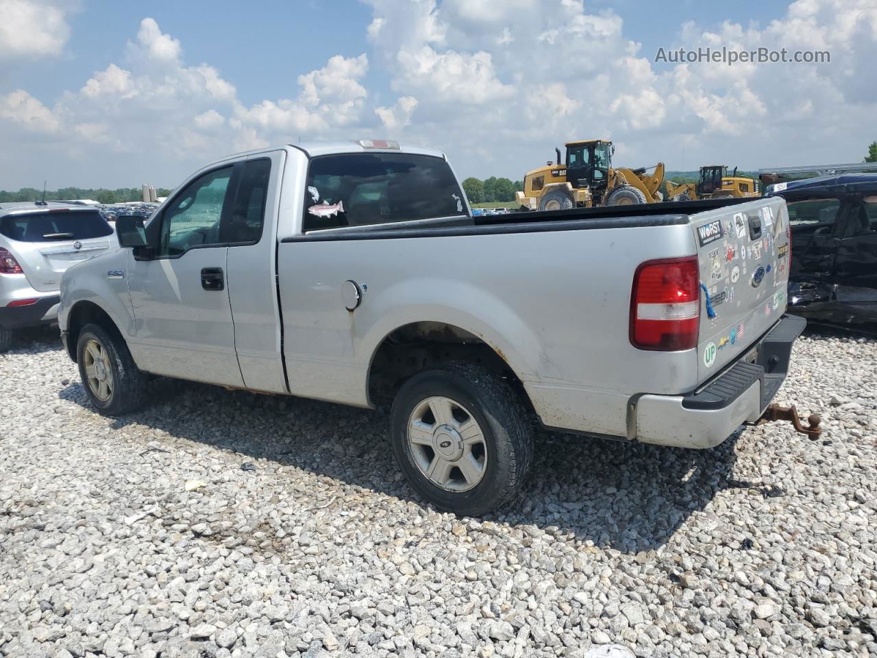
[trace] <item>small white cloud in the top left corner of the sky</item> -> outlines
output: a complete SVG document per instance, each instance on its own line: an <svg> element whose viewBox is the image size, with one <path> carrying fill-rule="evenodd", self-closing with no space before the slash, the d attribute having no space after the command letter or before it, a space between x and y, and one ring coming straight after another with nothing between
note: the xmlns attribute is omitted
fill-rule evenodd
<svg viewBox="0 0 877 658"><path fill-rule="evenodd" d="M64 5L0 0L0 63L59 55L70 26Z"/></svg>

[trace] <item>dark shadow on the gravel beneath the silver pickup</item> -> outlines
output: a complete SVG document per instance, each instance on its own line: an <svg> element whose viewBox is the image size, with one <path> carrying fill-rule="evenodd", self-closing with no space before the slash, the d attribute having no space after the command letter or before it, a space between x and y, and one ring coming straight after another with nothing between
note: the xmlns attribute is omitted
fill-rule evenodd
<svg viewBox="0 0 877 658"><path fill-rule="evenodd" d="M425 505L396 468L386 410L168 379L151 389L152 404L111 421L112 427L147 426L232 451L261 475L292 466ZM59 397L96 413L78 382ZM589 540L625 554L657 549L717 491L749 486L730 478L737 439L734 434L712 450L685 450L540 432L521 497L484 520L538 526L559 539ZM182 447L160 440L170 453ZM146 446L128 447L141 453Z"/></svg>

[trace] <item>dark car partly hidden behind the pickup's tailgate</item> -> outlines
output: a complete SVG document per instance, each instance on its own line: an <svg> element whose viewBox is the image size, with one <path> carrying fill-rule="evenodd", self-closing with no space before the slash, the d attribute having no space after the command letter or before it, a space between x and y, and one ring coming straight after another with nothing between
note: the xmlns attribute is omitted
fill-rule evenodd
<svg viewBox="0 0 877 658"><path fill-rule="evenodd" d="M784 197L788 205L789 312L877 331L877 175L781 182L766 196Z"/></svg>

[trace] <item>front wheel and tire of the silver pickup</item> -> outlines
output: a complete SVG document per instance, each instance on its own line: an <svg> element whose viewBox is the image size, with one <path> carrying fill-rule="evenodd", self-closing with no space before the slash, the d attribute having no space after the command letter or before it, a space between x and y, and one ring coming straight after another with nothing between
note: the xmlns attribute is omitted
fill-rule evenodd
<svg viewBox="0 0 877 658"><path fill-rule="evenodd" d="M131 357L125 340L100 325L85 325L76 343L82 388L104 416L137 411L146 402L146 375Z"/></svg>

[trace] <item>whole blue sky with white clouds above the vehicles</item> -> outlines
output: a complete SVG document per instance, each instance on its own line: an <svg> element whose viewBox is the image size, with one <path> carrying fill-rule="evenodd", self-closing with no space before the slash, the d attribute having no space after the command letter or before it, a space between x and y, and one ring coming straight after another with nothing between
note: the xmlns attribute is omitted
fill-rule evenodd
<svg viewBox="0 0 877 658"><path fill-rule="evenodd" d="M655 61L707 46L831 61ZM173 188L318 139L513 180L571 139L631 167L855 162L874 62L877 0L0 0L0 189Z"/></svg>

